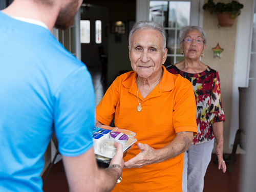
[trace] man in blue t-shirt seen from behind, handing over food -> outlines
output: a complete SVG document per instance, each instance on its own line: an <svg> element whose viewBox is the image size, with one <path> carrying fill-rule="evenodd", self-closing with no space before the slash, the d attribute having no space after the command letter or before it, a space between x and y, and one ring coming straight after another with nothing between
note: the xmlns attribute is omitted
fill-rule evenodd
<svg viewBox="0 0 256 192"><path fill-rule="evenodd" d="M82 0L15 0L0 11L0 191L42 191L40 174L53 133L71 191L110 191L121 175L93 151L95 96L84 64L51 34L67 29Z"/></svg>

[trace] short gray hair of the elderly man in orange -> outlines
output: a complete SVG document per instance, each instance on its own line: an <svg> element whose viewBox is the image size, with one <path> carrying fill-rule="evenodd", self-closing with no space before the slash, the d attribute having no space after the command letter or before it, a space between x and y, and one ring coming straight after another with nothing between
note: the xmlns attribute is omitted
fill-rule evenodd
<svg viewBox="0 0 256 192"><path fill-rule="evenodd" d="M130 49L131 49L132 35L137 30L141 30L141 29L153 29L153 30L159 31L162 34L162 36L163 36L163 52L164 52L164 50L166 48L166 32L165 32L164 28L160 24L154 22L153 20L150 21L150 22L148 22L146 20L141 21L141 22L137 22L133 26L133 29L129 33L129 46L130 46Z"/></svg>

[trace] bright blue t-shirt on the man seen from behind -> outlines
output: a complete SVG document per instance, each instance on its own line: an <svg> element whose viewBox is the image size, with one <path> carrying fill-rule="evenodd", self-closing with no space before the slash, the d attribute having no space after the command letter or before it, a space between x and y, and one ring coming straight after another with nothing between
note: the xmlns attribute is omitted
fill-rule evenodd
<svg viewBox="0 0 256 192"><path fill-rule="evenodd" d="M90 73L44 27L0 11L0 191L42 191L40 173L53 132L59 152L93 146Z"/></svg>

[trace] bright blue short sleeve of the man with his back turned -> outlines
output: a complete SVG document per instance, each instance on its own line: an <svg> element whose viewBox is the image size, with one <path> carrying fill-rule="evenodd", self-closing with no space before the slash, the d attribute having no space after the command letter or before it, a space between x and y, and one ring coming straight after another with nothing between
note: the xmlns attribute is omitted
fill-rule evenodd
<svg viewBox="0 0 256 192"><path fill-rule="evenodd" d="M85 66L71 73L54 94L54 129L61 155L79 156L93 146L95 94Z"/></svg>

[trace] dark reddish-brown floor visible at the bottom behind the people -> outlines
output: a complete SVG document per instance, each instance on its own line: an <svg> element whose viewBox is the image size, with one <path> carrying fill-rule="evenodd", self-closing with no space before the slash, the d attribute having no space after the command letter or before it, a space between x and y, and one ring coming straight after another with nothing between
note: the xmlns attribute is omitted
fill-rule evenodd
<svg viewBox="0 0 256 192"><path fill-rule="evenodd" d="M213 158L215 156L215 154L212 154L212 160L207 168L204 179L204 192L239 192L239 177L241 175L240 168L244 155L237 155L237 160L233 164L232 173L225 174L218 170L218 164L214 163ZM44 179L45 176L46 173L42 178ZM69 191L62 161L59 161L53 166L43 190L45 192Z"/></svg>

